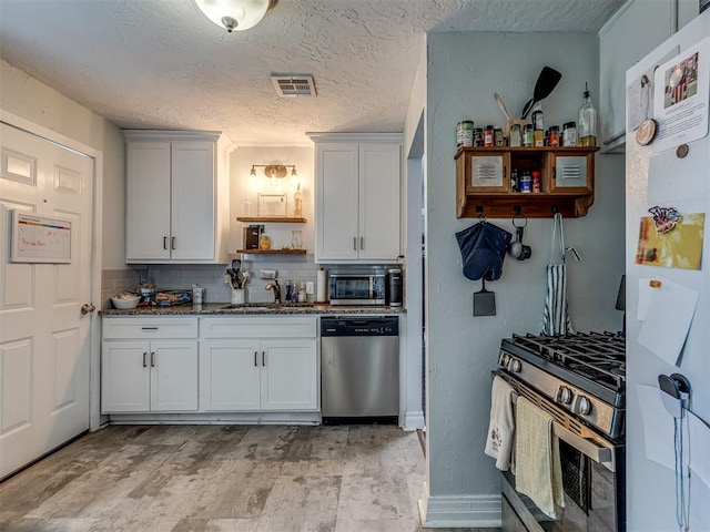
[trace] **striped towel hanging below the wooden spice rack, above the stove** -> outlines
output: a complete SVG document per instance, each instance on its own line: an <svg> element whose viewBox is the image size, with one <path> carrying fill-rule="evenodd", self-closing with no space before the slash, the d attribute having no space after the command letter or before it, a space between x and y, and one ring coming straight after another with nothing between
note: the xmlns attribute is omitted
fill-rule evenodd
<svg viewBox="0 0 710 532"><path fill-rule="evenodd" d="M557 241L557 245L555 243ZM555 213L550 262L547 265L547 294L542 314L542 334L564 336L575 329L567 313L567 269L565 267L565 234L562 215Z"/></svg>

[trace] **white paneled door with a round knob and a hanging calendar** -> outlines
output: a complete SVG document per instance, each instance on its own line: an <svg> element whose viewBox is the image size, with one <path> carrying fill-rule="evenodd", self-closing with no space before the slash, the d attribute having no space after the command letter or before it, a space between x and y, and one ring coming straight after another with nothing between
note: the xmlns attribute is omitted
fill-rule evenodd
<svg viewBox="0 0 710 532"><path fill-rule="evenodd" d="M93 160L0 123L0 478L89 428ZM11 263L10 209L71 221L70 264Z"/></svg>

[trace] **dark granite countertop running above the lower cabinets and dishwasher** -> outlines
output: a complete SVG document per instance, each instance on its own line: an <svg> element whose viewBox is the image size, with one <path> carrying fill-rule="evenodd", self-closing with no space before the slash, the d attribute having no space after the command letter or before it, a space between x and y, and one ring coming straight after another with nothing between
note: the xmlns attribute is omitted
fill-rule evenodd
<svg viewBox="0 0 710 532"><path fill-rule="evenodd" d="M303 314L403 314L404 307L388 306L347 306L347 305L301 305L272 303L246 303L230 305L227 303L207 303L201 306L176 305L173 307L139 307L130 310L108 308L101 310L102 316L263 316L263 315L303 315Z"/></svg>

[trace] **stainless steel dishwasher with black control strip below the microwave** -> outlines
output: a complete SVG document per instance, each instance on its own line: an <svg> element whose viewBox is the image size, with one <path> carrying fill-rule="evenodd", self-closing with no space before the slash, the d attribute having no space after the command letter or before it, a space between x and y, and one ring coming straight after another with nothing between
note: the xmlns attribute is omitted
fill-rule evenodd
<svg viewBox="0 0 710 532"><path fill-rule="evenodd" d="M397 316L321 318L321 408L325 424L397 422Z"/></svg>

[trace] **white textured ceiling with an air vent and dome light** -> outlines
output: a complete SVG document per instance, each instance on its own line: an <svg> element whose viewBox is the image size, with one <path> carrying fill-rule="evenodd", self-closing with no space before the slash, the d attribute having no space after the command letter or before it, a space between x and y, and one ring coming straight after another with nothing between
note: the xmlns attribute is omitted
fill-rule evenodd
<svg viewBox="0 0 710 532"><path fill-rule="evenodd" d="M402 131L425 32L592 32L621 3L280 0L226 33L192 0L0 0L0 57L121 127L288 145ZM277 96L271 74L292 72L313 74L317 98Z"/></svg>

